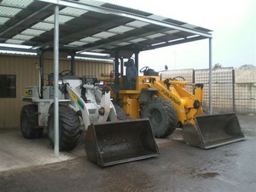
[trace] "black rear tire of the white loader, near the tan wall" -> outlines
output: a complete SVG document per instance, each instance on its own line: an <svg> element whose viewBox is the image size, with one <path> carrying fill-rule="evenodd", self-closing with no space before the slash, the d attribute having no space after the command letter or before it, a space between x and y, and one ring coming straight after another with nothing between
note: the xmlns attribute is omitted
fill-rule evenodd
<svg viewBox="0 0 256 192"><path fill-rule="evenodd" d="M26 105L20 112L20 129L23 137L37 139L43 136L44 128L38 127L38 106Z"/></svg>

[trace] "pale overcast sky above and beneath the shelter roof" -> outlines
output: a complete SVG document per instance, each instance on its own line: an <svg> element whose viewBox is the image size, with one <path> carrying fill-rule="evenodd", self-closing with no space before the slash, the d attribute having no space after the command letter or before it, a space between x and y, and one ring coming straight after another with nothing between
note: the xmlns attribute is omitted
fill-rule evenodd
<svg viewBox="0 0 256 192"><path fill-rule="evenodd" d="M102 0L211 29L212 65L256 65L255 0ZM139 67L207 68L208 39L139 54Z"/></svg>

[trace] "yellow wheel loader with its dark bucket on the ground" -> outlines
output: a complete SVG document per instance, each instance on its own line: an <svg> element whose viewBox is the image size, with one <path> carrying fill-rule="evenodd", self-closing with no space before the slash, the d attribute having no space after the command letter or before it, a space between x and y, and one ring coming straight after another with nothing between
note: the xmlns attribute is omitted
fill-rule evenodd
<svg viewBox="0 0 256 192"><path fill-rule="evenodd" d="M175 78L161 80L159 73L149 67L143 67L143 76L137 76L131 59L125 67L126 75L115 73L118 78L105 80L114 100L130 119L150 120L154 137L168 137L181 127L184 142L199 148L215 148L244 139L235 113L204 115L203 84ZM193 93L186 90L188 86Z"/></svg>

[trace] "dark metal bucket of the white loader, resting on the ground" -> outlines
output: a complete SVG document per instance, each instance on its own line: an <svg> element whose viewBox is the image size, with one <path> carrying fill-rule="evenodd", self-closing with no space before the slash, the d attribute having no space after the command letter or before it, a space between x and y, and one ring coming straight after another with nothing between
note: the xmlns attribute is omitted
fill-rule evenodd
<svg viewBox="0 0 256 192"><path fill-rule="evenodd" d="M148 119L92 124L85 134L85 150L88 159L98 166L113 166L159 154Z"/></svg>

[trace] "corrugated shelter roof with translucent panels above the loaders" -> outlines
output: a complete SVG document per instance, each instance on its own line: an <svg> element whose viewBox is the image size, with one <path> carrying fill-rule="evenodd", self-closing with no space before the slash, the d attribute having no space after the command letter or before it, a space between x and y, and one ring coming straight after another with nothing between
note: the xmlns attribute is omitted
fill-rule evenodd
<svg viewBox="0 0 256 192"><path fill-rule="evenodd" d="M68 52L142 51L211 38L212 31L201 26L95 0L3 0L0 43L53 49L55 3L60 49Z"/></svg>

